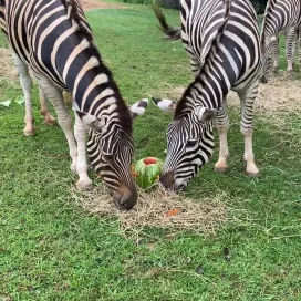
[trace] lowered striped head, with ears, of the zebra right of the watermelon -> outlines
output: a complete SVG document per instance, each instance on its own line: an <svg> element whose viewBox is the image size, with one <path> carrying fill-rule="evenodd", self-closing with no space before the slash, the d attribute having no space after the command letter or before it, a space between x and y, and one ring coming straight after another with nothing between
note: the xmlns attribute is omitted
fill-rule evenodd
<svg viewBox="0 0 301 301"><path fill-rule="evenodd" d="M176 103L153 98L163 110L173 112ZM160 183L167 189L181 190L193 179L214 153L212 120L217 110L195 107L175 115L167 128L167 157Z"/></svg>

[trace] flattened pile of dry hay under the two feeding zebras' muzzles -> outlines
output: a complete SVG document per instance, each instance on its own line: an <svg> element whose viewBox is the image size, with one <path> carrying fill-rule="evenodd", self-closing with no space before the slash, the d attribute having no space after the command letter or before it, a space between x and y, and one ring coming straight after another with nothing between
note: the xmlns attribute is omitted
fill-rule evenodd
<svg viewBox="0 0 301 301"><path fill-rule="evenodd" d="M214 199L191 200L184 195L164 190L162 187L139 190L138 204L131 211L118 210L106 188L101 185L92 193L72 190L77 204L100 216L117 217L123 231L135 231L144 227L189 230L197 233L214 233L227 220L226 195Z"/></svg>

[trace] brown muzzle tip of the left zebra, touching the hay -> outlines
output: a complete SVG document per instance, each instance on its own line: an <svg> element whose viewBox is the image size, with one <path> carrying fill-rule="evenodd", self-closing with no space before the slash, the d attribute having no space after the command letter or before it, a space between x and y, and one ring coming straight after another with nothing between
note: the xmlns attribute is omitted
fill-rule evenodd
<svg viewBox="0 0 301 301"><path fill-rule="evenodd" d="M124 184L113 194L115 205L122 210L131 210L137 204L137 198L136 188L129 189Z"/></svg>

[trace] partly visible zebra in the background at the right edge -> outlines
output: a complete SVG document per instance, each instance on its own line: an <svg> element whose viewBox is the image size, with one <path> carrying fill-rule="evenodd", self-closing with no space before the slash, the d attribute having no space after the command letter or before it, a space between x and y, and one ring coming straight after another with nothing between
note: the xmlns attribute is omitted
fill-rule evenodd
<svg viewBox="0 0 301 301"><path fill-rule="evenodd" d="M294 50L299 40L301 29L301 1L300 0L269 0L261 30L261 51L262 51L262 77L261 82L267 83L274 53L274 71L278 69L277 58L279 55L278 35L287 35L287 71L293 77ZM298 37L298 38L297 38ZM276 49L273 51L273 49ZM300 56L300 55L299 55ZM301 61L301 56L300 56Z"/></svg>

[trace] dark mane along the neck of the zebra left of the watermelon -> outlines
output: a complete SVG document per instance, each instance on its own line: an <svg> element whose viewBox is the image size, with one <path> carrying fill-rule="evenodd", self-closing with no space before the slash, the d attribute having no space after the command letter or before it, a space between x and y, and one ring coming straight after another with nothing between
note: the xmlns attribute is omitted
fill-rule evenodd
<svg viewBox="0 0 301 301"><path fill-rule="evenodd" d="M85 39L89 42L89 46L85 48L84 51L87 53L90 58L96 58L98 62L98 65L94 66L94 69L97 71L97 73L100 74L104 73L107 75L108 77L107 85L114 91L121 125L126 134L132 134L132 116L129 110L121 95L120 89L113 79L112 72L102 61L101 53L97 50L97 46L95 45L92 35L92 29L90 28L87 22L83 19L84 13L80 8L77 0L61 0L61 1L65 7L66 11L70 10L71 20L77 24L77 30L75 34L80 38L81 41Z"/></svg>

